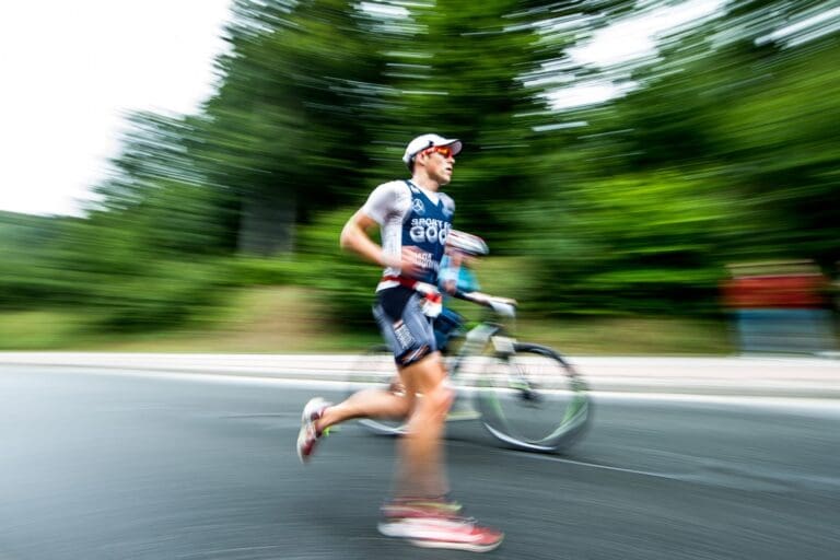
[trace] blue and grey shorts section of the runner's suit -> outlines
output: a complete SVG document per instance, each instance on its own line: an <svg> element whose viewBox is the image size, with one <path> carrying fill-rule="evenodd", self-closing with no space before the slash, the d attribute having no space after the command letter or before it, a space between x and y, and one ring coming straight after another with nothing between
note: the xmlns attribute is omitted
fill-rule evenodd
<svg viewBox="0 0 840 560"><path fill-rule="evenodd" d="M438 350L432 319L421 308L423 296L397 285L376 292L373 316L399 366L416 363Z"/></svg>

